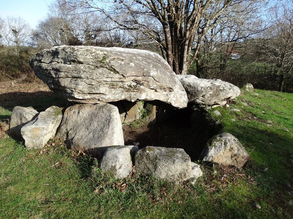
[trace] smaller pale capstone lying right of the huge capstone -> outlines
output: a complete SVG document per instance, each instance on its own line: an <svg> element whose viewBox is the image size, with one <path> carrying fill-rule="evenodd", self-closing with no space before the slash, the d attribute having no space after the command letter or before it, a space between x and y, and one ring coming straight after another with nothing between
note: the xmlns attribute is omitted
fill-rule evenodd
<svg viewBox="0 0 293 219"><path fill-rule="evenodd" d="M225 105L240 94L240 89L220 79L200 79L194 75L176 75L186 90L188 101L205 105Z"/></svg>

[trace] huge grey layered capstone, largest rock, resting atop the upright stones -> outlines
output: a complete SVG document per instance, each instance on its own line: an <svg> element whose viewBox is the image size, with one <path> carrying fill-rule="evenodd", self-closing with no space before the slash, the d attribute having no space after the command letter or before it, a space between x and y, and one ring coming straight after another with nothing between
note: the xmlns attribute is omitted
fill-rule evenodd
<svg viewBox="0 0 293 219"><path fill-rule="evenodd" d="M51 90L80 103L160 100L184 108L188 99L168 63L139 49L58 46L30 59Z"/></svg>

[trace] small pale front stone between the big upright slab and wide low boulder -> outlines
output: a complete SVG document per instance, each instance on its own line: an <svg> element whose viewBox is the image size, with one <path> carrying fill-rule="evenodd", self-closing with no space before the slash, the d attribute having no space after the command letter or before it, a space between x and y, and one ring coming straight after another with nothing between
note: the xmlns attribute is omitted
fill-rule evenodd
<svg viewBox="0 0 293 219"><path fill-rule="evenodd" d="M110 173L116 179L127 177L132 168L132 158L138 146L113 146L105 150L100 161L100 169L103 173Z"/></svg>

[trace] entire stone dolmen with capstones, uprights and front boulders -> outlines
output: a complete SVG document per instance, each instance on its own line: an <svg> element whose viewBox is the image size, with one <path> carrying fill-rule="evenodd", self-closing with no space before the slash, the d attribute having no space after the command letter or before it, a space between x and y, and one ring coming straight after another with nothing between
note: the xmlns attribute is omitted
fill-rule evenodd
<svg viewBox="0 0 293 219"><path fill-rule="evenodd" d="M223 104L240 94L239 88L227 82L178 76L160 55L139 49L57 46L33 55L30 66L52 91L71 104L52 106L40 113L32 107L17 106L12 112L10 134L24 141L29 150L42 148L57 136L68 148L98 157L101 171L117 179L129 176L135 167L138 175L194 183L203 173L183 149L124 145L122 123L139 119L146 111L148 121L154 122L156 107L149 103L175 109L185 108L187 103ZM228 137L234 140L233 153L237 153L241 144ZM203 157L217 162L219 155L208 144ZM221 150L230 150L217 145L221 146ZM245 150L242 145L240 150ZM248 159L243 154L234 161L239 168Z"/></svg>

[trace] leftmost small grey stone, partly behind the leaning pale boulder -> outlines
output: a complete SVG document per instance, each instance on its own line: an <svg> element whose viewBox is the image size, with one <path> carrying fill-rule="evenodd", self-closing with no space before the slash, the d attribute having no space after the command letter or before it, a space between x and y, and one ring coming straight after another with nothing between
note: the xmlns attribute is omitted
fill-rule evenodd
<svg viewBox="0 0 293 219"><path fill-rule="evenodd" d="M35 119L38 114L39 113L32 107L14 107L9 122L10 135L16 137L17 139L21 139L21 128L32 119Z"/></svg>

